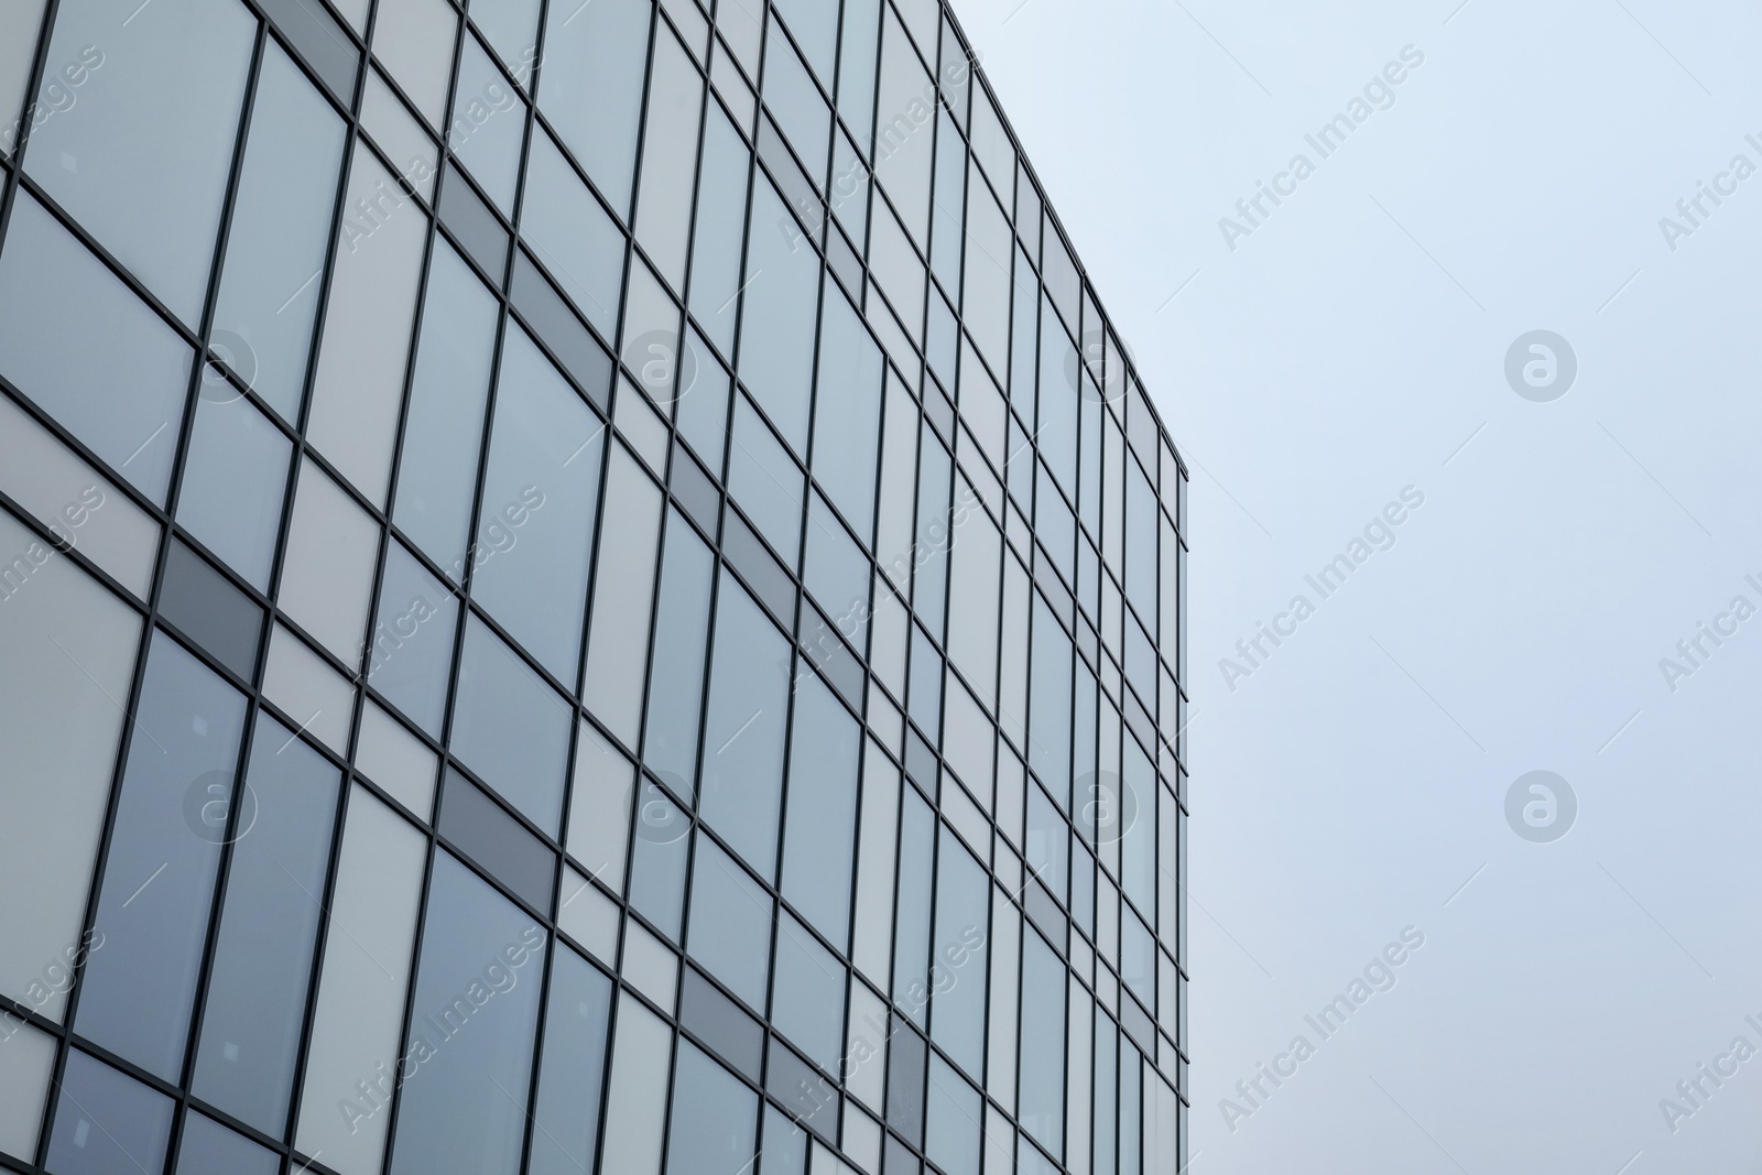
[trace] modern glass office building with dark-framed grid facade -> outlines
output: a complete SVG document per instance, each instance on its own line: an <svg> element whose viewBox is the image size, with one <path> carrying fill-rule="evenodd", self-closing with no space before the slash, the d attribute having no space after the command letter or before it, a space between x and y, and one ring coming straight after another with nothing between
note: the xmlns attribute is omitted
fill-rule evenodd
<svg viewBox="0 0 1762 1175"><path fill-rule="evenodd" d="M1186 472L936 0L0 0L0 1166L1182 1166Z"/></svg>

